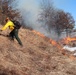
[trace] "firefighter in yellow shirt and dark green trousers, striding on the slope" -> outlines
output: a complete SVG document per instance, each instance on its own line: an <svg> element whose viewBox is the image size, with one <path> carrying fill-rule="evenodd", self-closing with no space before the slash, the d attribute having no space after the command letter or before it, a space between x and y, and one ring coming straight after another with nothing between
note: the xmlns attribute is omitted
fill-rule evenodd
<svg viewBox="0 0 76 75"><path fill-rule="evenodd" d="M5 29L7 29L9 27L9 29L11 30L11 32L9 33L9 37L11 37L12 40L14 40L14 38L16 38L18 43L21 46L23 46L20 38L18 37L18 29L15 28L14 23L9 18L6 18L5 21L6 21L6 24L1 29L1 31L5 30Z"/></svg>

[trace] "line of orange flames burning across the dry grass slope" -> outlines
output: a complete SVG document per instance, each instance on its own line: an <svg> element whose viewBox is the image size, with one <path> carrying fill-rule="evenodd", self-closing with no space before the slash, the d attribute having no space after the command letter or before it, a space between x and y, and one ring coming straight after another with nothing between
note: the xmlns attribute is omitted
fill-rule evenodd
<svg viewBox="0 0 76 75"><path fill-rule="evenodd" d="M35 31L35 30L32 30L32 32L35 33L35 34L37 34L37 35L39 35L39 36L42 37L42 38L46 38L46 36L43 35L43 34L41 34L40 32L37 32L37 31ZM63 43L59 43L61 40L58 41L58 42L56 42L55 40L53 40L53 39L51 39L51 38L48 38L48 39L49 39L49 40L48 40L47 42L49 42L49 43L52 44L53 46L57 47L57 48L59 49L59 51L60 51L63 55L68 56L67 53L65 53L65 50L63 49L63 46L61 45L61 44L63 44ZM66 38L62 39L62 41L67 45L67 44L69 44L69 43L72 42L72 41L76 41L76 38L66 37ZM75 59L76 59L76 58L75 58L74 56L72 56L72 55L69 55L68 57L69 57L71 60L75 60Z"/></svg>

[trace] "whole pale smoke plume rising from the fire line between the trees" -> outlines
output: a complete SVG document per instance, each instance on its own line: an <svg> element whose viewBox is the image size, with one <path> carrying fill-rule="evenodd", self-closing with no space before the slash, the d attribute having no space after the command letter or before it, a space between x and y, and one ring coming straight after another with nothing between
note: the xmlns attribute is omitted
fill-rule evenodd
<svg viewBox="0 0 76 75"><path fill-rule="evenodd" d="M47 37L56 39L58 36L54 30L48 31L48 27L38 22L40 14L40 2L36 0L20 0L18 9L21 12L24 23Z"/></svg>

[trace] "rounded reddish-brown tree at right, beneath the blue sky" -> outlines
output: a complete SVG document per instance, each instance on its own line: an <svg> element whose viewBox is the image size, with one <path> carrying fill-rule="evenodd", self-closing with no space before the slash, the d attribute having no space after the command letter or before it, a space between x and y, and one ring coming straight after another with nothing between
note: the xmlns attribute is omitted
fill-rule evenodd
<svg viewBox="0 0 76 75"><path fill-rule="evenodd" d="M55 23L56 23L55 24L56 32L60 34L63 30L65 30L67 36L68 36L68 32L70 32L75 26L75 21L71 16L71 14L65 13L62 10L59 10L57 12L57 19Z"/></svg>

